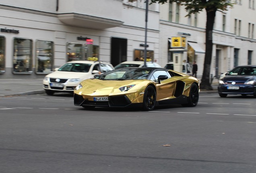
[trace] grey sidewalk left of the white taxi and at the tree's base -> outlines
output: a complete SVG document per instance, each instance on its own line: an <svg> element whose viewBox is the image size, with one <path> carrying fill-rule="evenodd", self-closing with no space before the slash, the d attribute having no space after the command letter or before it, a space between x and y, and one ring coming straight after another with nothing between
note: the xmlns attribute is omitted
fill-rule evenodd
<svg viewBox="0 0 256 173"><path fill-rule="evenodd" d="M213 82L212 91L203 91L200 93L217 92L218 84ZM0 97L15 95L35 95L45 93L43 89L43 79L0 79Z"/></svg>

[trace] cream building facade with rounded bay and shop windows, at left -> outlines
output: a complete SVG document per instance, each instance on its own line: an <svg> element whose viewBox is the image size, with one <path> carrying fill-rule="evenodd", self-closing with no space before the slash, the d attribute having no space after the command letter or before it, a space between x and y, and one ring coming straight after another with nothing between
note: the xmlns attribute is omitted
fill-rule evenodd
<svg viewBox="0 0 256 173"><path fill-rule="evenodd" d="M144 58L144 8L143 2L123 0L2 0L0 78L43 78L72 60L115 66ZM158 4L148 17L147 58L157 62Z"/></svg>

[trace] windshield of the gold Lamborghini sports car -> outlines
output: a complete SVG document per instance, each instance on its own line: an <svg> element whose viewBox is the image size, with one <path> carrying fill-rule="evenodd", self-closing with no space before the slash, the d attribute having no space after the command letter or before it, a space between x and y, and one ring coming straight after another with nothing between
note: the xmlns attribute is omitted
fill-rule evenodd
<svg viewBox="0 0 256 173"><path fill-rule="evenodd" d="M119 68L111 72L106 72L95 78L101 80L131 80L131 79L147 79L151 69L142 68Z"/></svg>

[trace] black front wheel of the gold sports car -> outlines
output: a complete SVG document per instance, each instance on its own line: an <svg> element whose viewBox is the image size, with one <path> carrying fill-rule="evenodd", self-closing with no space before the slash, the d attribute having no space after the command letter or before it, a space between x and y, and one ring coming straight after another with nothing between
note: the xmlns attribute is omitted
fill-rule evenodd
<svg viewBox="0 0 256 173"><path fill-rule="evenodd" d="M144 92L143 109L145 111L152 111L155 108L155 105L157 103L156 100L157 100L157 96L156 96L154 87L148 86Z"/></svg>

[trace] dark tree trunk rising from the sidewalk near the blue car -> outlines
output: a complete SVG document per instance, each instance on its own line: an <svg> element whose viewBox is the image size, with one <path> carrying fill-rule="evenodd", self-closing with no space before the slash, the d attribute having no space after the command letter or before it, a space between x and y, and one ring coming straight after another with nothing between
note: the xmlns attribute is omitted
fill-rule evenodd
<svg viewBox="0 0 256 173"><path fill-rule="evenodd" d="M204 70L200 83L200 89L213 90L210 83L210 69L213 53L213 25L217 10L206 8L206 31L205 31L205 55L204 55Z"/></svg>

